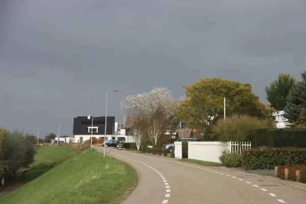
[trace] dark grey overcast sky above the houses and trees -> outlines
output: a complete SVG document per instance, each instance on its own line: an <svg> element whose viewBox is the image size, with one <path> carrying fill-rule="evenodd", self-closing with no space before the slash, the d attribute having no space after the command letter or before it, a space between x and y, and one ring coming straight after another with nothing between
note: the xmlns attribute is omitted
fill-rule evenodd
<svg viewBox="0 0 306 204"><path fill-rule="evenodd" d="M200 78L251 83L267 103L277 73L300 80L306 1L2 0L0 126L72 135L73 118L122 122L127 95Z"/></svg>

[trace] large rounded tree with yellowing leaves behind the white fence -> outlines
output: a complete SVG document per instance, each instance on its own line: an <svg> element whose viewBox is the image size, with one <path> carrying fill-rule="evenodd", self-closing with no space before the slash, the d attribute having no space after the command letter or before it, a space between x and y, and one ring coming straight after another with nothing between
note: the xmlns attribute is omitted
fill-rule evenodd
<svg viewBox="0 0 306 204"><path fill-rule="evenodd" d="M252 93L248 83L228 81L222 78L200 79L183 86L185 96L174 104L175 115L186 121L190 128L213 124L223 118L223 99L226 97L226 116L234 113L249 114L260 118L264 115L259 97ZM272 114L272 113L271 113Z"/></svg>

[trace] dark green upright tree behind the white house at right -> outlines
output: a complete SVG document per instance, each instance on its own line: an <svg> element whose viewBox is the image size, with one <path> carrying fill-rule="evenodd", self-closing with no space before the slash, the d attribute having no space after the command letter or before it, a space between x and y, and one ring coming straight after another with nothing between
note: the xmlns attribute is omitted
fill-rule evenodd
<svg viewBox="0 0 306 204"><path fill-rule="evenodd" d="M277 79L271 82L269 87L266 86L266 98L271 107L278 111L284 110L288 95L295 83L296 79L289 73L278 73Z"/></svg>

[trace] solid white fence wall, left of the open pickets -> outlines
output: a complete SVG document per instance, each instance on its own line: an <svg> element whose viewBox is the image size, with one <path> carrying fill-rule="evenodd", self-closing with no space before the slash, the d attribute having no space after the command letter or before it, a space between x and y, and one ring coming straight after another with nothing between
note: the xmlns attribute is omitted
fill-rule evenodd
<svg viewBox="0 0 306 204"><path fill-rule="evenodd" d="M221 163L219 157L222 151L229 150L229 148L229 145L224 145L221 142L188 142L188 159Z"/></svg>

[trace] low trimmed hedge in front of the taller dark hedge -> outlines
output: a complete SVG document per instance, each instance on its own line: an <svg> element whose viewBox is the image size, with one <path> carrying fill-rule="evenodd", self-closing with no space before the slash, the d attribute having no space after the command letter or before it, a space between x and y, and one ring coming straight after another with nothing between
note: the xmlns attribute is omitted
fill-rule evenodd
<svg viewBox="0 0 306 204"><path fill-rule="evenodd" d="M306 148L244 149L246 169L274 169L275 166L306 164Z"/></svg>

